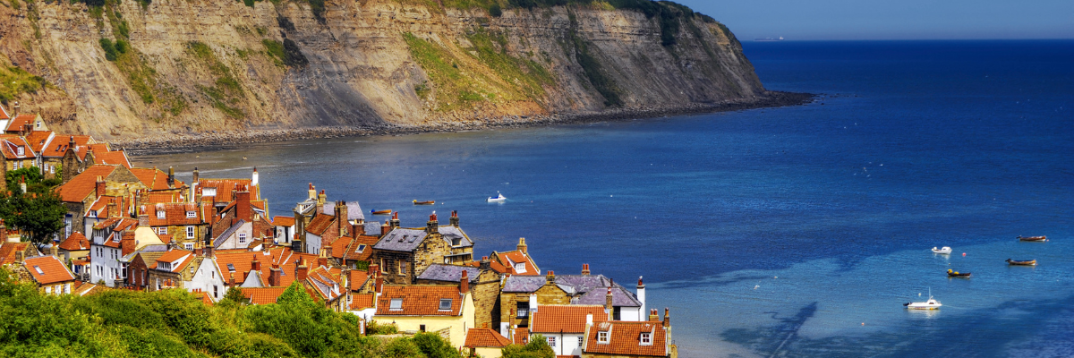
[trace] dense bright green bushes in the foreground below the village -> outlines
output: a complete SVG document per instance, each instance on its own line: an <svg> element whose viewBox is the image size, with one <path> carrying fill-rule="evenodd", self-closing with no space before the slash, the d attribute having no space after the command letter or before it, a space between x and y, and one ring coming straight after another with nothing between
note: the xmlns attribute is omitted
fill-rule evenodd
<svg viewBox="0 0 1074 358"><path fill-rule="evenodd" d="M296 284L275 304L205 305L176 289L45 296L0 269L0 316L3 357L461 357L437 334L363 336Z"/></svg>

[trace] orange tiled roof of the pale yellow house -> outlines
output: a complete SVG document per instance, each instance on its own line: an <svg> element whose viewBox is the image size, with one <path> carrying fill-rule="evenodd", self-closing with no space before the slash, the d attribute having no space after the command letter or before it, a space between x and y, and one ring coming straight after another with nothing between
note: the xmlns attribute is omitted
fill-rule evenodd
<svg viewBox="0 0 1074 358"><path fill-rule="evenodd" d="M397 310L391 309L393 299L401 299ZM450 310L440 310L440 300L451 300ZM458 286L447 285L384 285L377 300L378 316L458 316L462 314L463 295Z"/></svg>

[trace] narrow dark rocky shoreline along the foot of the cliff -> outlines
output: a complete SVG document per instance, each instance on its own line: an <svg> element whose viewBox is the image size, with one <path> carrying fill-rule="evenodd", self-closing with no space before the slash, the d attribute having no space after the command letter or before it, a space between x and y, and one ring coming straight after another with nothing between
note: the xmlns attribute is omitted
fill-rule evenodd
<svg viewBox="0 0 1074 358"><path fill-rule="evenodd" d="M218 151L249 143L270 143L293 140L371 137L392 134L444 133L463 130L496 128L528 128L560 125L581 125L609 120L630 120L672 115L731 112L764 108L802 105L813 102L814 94L767 91L765 97L729 100L720 103L692 103L674 108L615 109L596 113L552 114L540 116L505 116L490 120L466 119L424 125L383 126L325 126L286 129L240 129L227 132L192 134L157 134L132 140L107 141L127 151L130 156L195 153Z"/></svg>

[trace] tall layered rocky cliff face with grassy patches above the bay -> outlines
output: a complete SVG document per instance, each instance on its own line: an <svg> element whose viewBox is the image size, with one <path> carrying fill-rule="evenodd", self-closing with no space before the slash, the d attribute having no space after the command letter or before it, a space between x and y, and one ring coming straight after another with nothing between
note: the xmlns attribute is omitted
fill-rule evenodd
<svg viewBox="0 0 1074 358"><path fill-rule="evenodd" d="M286 0L26 1L0 0L0 65L47 84L9 101L100 139L474 123L765 92L734 35L693 13L662 38L658 16L607 5L491 16L389 0L330 1L317 14Z"/></svg>

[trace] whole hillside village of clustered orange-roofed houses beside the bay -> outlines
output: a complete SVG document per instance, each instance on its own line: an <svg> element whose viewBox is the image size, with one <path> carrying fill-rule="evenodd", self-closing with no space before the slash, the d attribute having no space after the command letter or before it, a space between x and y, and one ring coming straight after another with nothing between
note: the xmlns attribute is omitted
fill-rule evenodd
<svg viewBox="0 0 1074 358"><path fill-rule="evenodd" d="M291 213L273 216L256 168L238 178L194 168L184 183L172 168L134 168L121 148L12 110L0 106L0 174L40 171L58 183L66 214L40 242L0 220L0 267L44 295L184 290L213 305L236 290L264 305L297 285L363 329L437 333L464 356L500 357L540 338L557 357L678 357L670 313L647 305L641 277L624 286L587 263L542 271L524 238L475 252L480 240L458 212L446 223L435 212L425 223L379 220L313 183L295 188L306 199ZM32 195L19 185L9 195Z"/></svg>

